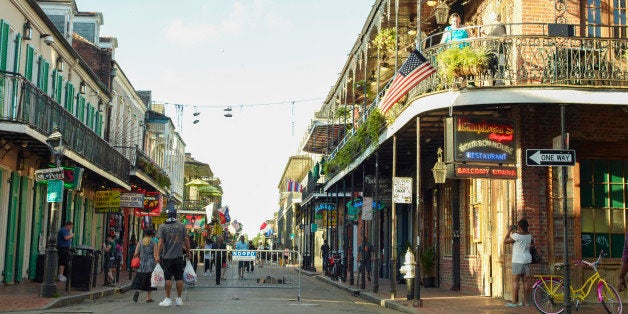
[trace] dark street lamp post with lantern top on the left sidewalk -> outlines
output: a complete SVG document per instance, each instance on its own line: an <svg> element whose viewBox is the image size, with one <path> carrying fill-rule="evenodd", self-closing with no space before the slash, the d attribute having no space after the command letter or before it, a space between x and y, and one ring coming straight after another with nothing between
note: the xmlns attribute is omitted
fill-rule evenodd
<svg viewBox="0 0 628 314"><path fill-rule="evenodd" d="M50 153L54 157L55 165L57 169L61 168L61 156L63 156L63 151L65 147L63 146L63 136L59 129L55 128L55 130L48 136L46 139L46 144L48 144L48 148L50 149ZM52 181L52 180L50 180ZM49 181L49 184L50 184ZM55 200L56 201L56 200ZM58 209L61 210L63 202L63 184L61 184L61 201L58 202ZM49 237L48 242L46 243L46 263L44 266L44 282L41 285L41 296L45 298L54 297L57 293L57 284L54 280L54 274L58 267L58 255L57 255L57 210L55 208L55 202L50 201L50 224L49 224Z"/></svg>

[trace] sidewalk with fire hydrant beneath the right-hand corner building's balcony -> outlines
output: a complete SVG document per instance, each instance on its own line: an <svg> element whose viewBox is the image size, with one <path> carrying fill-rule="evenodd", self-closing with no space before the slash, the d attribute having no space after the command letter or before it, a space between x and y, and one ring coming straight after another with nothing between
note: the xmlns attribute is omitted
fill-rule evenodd
<svg viewBox="0 0 628 314"><path fill-rule="evenodd" d="M340 289L346 290L348 293L358 296L369 302L380 304L382 306L395 309L406 313L533 313L536 312L534 305L526 307L506 307L506 301L499 298L483 297L471 295L460 291L450 291L445 288L424 288L421 286L421 303L422 306L413 305L412 300L407 300L406 284L396 285L396 294L394 300L391 299L391 281L379 278L379 288L377 293L373 292L373 281L366 282L364 290L359 286L349 284L349 276L347 282L332 281L329 277L321 272L303 271L304 274L315 276L318 280L334 285ZM354 275L355 284L358 282L358 273ZM418 303L418 302L414 302Z"/></svg>

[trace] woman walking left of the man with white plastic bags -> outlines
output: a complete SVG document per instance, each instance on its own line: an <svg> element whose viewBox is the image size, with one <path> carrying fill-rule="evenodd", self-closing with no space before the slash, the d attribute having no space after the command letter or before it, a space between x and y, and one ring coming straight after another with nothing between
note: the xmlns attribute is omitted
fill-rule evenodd
<svg viewBox="0 0 628 314"><path fill-rule="evenodd" d="M133 294L133 302L137 302L140 296L140 290L146 291L146 302L155 302L151 297L151 291L157 290L151 287L151 275L155 269L155 248L157 244L152 238L155 236L155 230L147 228L144 230L144 237L135 247L134 257L140 258L140 267L137 269L131 289L136 290Z"/></svg>

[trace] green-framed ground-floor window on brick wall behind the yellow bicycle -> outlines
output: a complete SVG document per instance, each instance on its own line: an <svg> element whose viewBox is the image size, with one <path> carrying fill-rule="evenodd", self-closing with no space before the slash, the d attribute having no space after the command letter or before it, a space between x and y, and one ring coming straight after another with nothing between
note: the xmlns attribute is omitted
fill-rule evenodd
<svg viewBox="0 0 628 314"><path fill-rule="evenodd" d="M626 234L628 160L583 160L580 163L582 257L604 250L620 258Z"/></svg>

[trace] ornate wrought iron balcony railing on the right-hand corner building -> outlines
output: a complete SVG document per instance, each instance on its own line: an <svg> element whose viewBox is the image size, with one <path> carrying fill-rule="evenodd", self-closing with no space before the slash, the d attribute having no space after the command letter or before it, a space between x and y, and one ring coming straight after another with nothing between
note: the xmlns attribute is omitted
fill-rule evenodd
<svg viewBox="0 0 628 314"><path fill-rule="evenodd" d="M484 26L486 27L486 26ZM520 86L546 86L562 88L609 87L628 89L628 39L613 37L614 28L603 29L602 34L611 37L550 37L547 24L506 24L507 35L499 37L481 37L482 27L468 27L471 37L465 39L465 45L472 48L483 47L490 54L489 66L476 75L463 78L465 84L481 88L509 88ZM577 25L572 26L575 34L581 34ZM590 32L584 29L584 33ZM434 34L422 40L423 55L432 66L438 69L437 56L461 42L440 44L442 33ZM388 83L390 83L389 80ZM434 92L460 88L460 81L448 81L436 73L419 83L408 94L410 103L413 99L424 97ZM366 121L366 117L377 107L378 99L385 93L379 93L357 118ZM396 118L404 106L392 108L389 118ZM329 160L347 143L354 132L347 132L338 146L329 154ZM333 173L328 174L329 177Z"/></svg>

